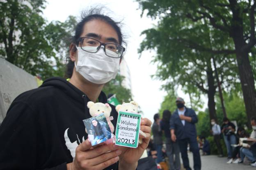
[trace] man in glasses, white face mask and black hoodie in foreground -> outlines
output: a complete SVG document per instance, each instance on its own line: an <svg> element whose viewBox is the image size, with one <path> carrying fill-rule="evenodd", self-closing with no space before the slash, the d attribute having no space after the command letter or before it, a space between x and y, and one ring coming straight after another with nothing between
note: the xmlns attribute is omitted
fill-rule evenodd
<svg viewBox="0 0 256 170"><path fill-rule="evenodd" d="M0 126L0 169L19 170L135 170L150 140L151 121L137 148L114 143L92 147L84 119L91 118L87 102L107 103L102 92L115 78L125 47L119 23L92 8L83 13L69 47L66 78L49 78L19 95ZM116 127L118 113L112 107ZM96 125L96 122L93 122Z"/></svg>

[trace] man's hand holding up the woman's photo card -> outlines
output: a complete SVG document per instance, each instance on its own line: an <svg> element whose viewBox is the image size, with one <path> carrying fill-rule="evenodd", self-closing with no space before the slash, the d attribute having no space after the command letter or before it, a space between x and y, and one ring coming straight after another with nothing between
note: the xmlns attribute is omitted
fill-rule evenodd
<svg viewBox="0 0 256 170"><path fill-rule="evenodd" d="M87 140L75 150L75 159L67 164L67 170L102 170L119 160L120 147L110 143L95 148Z"/></svg>

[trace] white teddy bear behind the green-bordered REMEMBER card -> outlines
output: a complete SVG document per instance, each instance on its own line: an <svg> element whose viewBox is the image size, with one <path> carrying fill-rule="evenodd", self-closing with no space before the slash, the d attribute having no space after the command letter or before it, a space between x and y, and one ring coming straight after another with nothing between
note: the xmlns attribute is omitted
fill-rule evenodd
<svg viewBox="0 0 256 170"><path fill-rule="evenodd" d="M117 105L116 110L117 112L132 112L138 114L138 107L138 103L136 103L135 101L130 101L130 103L123 103L122 105ZM146 134L141 130L139 130L139 133L146 137ZM139 143L142 143L141 138L139 138Z"/></svg>

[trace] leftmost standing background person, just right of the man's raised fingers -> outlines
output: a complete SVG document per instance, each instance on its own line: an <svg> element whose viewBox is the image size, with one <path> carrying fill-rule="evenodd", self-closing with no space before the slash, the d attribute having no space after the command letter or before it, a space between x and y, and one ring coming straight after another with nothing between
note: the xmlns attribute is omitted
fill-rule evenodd
<svg viewBox="0 0 256 170"><path fill-rule="evenodd" d="M160 128L160 117L159 114L154 115L154 123L152 125L153 143L155 150L157 151L156 163L162 162L162 130Z"/></svg>

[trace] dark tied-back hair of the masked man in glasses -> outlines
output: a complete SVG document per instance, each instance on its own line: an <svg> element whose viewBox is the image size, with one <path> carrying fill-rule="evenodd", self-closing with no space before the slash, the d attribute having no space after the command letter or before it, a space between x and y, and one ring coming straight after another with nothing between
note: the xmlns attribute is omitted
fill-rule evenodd
<svg viewBox="0 0 256 170"><path fill-rule="evenodd" d="M120 45L126 45L126 42L124 42L124 36L121 33L121 22L116 22L114 20L112 20L112 18L110 18L109 16L103 15L103 9L105 9L106 7L93 7L91 9L89 9L88 11L84 11L82 12L81 15L81 20L80 22L78 22L78 24L75 27L75 35L72 36L71 38L71 45L69 48L69 51L76 51L76 47L75 45L78 44L78 39L80 38L82 32L83 32L83 28L84 25L91 21L91 20L103 20L105 21L107 24L111 25L115 31L117 31L117 36L118 36L118 40L119 40L119 44ZM68 60L68 64L66 65L66 74L65 77L66 78L71 78L72 74L73 74L73 69L74 69L74 62L70 60L70 58L67 58Z"/></svg>

